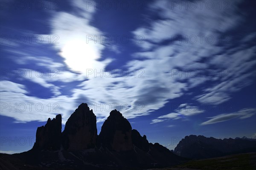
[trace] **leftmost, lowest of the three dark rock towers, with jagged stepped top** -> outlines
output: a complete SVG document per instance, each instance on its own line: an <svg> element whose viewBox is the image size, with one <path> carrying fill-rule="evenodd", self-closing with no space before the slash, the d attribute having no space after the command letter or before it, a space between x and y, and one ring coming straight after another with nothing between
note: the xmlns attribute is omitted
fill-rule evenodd
<svg viewBox="0 0 256 170"><path fill-rule="evenodd" d="M59 150L61 147L61 115L52 120L49 118L46 125L38 127L33 149Z"/></svg>

